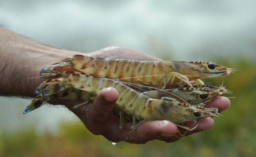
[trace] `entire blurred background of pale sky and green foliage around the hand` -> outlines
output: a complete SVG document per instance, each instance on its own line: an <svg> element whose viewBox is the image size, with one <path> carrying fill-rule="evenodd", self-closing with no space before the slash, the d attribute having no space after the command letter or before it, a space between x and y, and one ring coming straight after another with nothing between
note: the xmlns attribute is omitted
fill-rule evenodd
<svg viewBox="0 0 256 157"><path fill-rule="evenodd" d="M256 155L256 1L0 0L0 27L80 52L126 46L165 60L210 61L237 68L211 79L233 91L215 127L187 137L166 155ZM207 82L207 80L205 80ZM209 81L209 80L208 80ZM22 111L31 99L0 97L0 157L161 157L172 144L112 145L62 106ZM199 150L200 148L200 150Z"/></svg>

